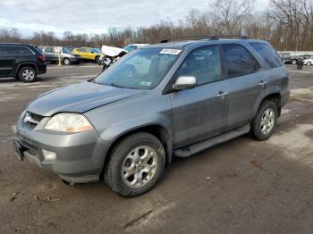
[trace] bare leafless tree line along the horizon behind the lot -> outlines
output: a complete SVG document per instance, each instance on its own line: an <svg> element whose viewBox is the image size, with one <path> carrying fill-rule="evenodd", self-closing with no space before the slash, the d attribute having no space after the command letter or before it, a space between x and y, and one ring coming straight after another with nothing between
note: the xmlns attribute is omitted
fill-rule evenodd
<svg viewBox="0 0 313 234"><path fill-rule="evenodd" d="M38 31L23 38L18 29L0 29L1 42L24 42L37 46L125 46L153 44L165 38L192 35L247 35L269 41L277 50L313 50L313 0L271 0L265 11L254 0L216 0L204 11L191 10L184 20L159 21L149 27L110 28L103 34L63 37Z"/></svg>

